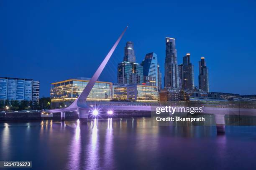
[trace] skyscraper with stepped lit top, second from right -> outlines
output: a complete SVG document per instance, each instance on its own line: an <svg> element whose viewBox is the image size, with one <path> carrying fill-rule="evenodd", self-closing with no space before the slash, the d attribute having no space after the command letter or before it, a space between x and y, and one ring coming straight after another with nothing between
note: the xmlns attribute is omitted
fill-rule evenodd
<svg viewBox="0 0 256 170"><path fill-rule="evenodd" d="M194 65L190 63L190 54L183 57L183 88L194 89Z"/></svg>

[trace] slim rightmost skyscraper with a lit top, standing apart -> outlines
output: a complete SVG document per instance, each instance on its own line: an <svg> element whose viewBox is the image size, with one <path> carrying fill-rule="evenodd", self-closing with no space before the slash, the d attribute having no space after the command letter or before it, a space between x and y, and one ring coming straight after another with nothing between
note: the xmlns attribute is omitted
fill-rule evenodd
<svg viewBox="0 0 256 170"><path fill-rule="evenodd" d="M209 92L209 76L208 68L206 67L205 57L201 57L199 61L199 88L205 92Z"/></svg>

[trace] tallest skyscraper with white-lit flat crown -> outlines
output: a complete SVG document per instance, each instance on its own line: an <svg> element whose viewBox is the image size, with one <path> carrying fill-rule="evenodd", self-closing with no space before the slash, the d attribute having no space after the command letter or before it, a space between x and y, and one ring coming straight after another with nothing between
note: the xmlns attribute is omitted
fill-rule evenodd
<svg viewBox="0 0 256 170"><path fill-rule="evenodd" d="M175 39L166 37L165 45L164 86L167 88L180 88Z"/></svg>

